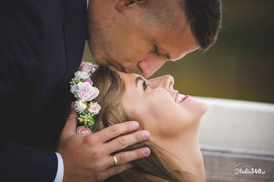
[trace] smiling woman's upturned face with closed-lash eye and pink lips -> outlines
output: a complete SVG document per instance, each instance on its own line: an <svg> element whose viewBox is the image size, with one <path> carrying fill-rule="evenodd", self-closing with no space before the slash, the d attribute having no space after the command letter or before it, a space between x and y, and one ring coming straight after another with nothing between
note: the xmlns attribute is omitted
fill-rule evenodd
<svg viewBox="0 0 274 182"><path fill-rule="evenodd" d="M173 89L172 76L146 80L135 74L119 74L126 84L123 105L151 137L167 138L182 132L198 132L207 104L190 96L180 99L178 91ZM185 93L182 91L182 94Z"/></svg>

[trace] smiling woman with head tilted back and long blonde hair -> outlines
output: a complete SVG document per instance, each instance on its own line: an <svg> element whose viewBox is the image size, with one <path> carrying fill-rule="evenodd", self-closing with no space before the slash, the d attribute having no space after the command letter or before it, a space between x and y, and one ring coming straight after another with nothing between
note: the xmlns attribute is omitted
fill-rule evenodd
<svg viewBox="0 0 274 182"><path fill-rule="evenodd" d="M133 161L135 167L105 181L206 180L198 143L206 103L179 94L173 89L172 76L146 80L139 75L118 72L111 66L99 66L92 74L92 81L100 90L94 99L101 106L94 117L97 131L135 120L140 123L139 130L150 133L150 140L121 150L149 147L150 156Z"/></svg>

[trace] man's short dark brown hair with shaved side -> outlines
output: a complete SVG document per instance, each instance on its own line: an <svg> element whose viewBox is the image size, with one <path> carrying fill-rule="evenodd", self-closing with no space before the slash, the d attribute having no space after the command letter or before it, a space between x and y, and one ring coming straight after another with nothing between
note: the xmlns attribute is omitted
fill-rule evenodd
<svg viewBox="0 0 274 182"><path fill-rule="evenodd" d="M167 25L173 21L174 11L181 11L200 49L206 51L217 40L222 23L221 6L221 0L152 0L144 15L151 25Z"/></svg>

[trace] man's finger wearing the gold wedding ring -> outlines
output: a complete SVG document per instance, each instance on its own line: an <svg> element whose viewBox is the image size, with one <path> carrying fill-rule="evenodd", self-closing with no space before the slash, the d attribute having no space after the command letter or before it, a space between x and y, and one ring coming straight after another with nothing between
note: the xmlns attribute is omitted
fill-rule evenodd
<svg viewBox="0 0 274 182"><path fill-rule="evenodd" d="M122 165L122 164L125 164L125 163L128 163L128 162L131 162L133 160L148 157L149 154L150 154L149 148L148 147L143 147L143 148L140 148L140 149L135 149L135 150L131 150L131 151L116 153L115 157L117 158L118 165ZM108 167L114 166L114 159L111 155L108 157L108 159L106 161L107 161L106 165Z"/></svg>

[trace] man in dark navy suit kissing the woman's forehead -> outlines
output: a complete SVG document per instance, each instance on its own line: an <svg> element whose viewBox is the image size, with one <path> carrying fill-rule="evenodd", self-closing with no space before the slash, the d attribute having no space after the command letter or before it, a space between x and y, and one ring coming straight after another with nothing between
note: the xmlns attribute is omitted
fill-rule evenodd
<svg viewBox="0 0 274 182"><path fill-rule="evenodd" d="M147 157L148 148L110 155L149 138L129 121L91 135L76 135L73 109L57 152L48 133L62 114L68 82L88 38L98 64L152 75L216 41L220 0L12 0L0 2L1 181L103 181ZM57 107L54 107L57 106ZM50 140L51 141L51 140Z"/></svg>

